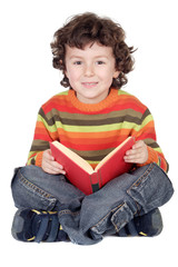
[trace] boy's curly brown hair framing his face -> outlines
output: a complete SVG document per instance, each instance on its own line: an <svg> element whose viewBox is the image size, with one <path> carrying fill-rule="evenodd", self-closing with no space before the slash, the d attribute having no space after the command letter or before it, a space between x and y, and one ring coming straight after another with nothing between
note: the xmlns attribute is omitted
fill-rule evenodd
<svg viewBox="0 0 178 267"><path fill-rule="evenodd" d="M70 87L65 75L66 70L66 44L83 49L90 42L99 42L102 46L111 47L116 59L116 70L119 77L112 80L111 87L120 89L127 83L126 73L134 68L134 47L128 47L125 42L123 29L109 18L100 18L95 13L83 13L75 16L62 28L55 32L51 49L53 55L53 68L63 72L61 85Z"/></svg>

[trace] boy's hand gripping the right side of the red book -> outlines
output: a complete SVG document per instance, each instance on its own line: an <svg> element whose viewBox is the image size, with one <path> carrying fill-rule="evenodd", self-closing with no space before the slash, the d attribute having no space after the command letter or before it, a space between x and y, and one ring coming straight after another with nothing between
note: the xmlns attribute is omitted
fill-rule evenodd
<svg viewBox="0 0 178 267"><path fill-rule="evenodd" d="M132 149L126 152L123 159L130 164L145 164L148 160L147 145L141 140L137 141Z"/></svg>

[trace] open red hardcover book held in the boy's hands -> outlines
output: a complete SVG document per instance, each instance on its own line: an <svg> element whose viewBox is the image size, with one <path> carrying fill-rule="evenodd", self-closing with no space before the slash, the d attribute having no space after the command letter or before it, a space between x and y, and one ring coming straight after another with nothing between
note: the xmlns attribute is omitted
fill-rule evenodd
<svg viewBox="0 0 178 267"><path fill-rule="evenodd" d="M131 149L134 137L128 137L121 145L108 154L93 170L92 167L76 152L58 141L50 144L55 159L63 166L66 177L86 195L99 190L111 179L127 172L132 165L123 160L126 151Z"/></svg>

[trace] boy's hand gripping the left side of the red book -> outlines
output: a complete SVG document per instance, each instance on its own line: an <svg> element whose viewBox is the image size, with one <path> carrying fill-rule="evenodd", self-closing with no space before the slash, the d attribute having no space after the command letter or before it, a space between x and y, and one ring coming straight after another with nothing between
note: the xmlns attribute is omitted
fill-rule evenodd
<svg viewBox="0 0 178 267"><path fill-rule="evenodd" d="M50 149L43 151L41 168L50 175L66 175L63 167L55 161Z"/></svg>

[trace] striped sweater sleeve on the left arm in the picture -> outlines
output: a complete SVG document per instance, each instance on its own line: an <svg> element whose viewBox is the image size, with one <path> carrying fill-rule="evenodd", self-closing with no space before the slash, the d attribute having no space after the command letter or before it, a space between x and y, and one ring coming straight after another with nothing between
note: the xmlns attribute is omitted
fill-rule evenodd
<svg viewBox="0 0 178 267"><path fill-rule="evenodd" d="M27 165L36 165L41 167L43 151L49 149L49 142L55 140L52 131L56 132L56 129L53 128L56 128L56 126L50 126L50 121L41 108L38 113L33 141L28 155Z"/></svg>

